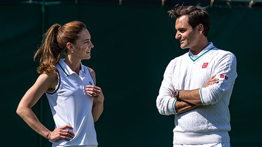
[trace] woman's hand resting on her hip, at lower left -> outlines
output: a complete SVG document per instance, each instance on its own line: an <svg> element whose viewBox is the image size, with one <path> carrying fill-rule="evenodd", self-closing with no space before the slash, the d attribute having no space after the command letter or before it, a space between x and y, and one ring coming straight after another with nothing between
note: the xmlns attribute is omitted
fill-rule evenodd
<svg viewBox="0 0 262 147"><path fill-rule="evenodd" d="M48 139L51 141L64 139L64 140L70 140L69 137L73 138L74 133L68 129L73 129L70 125L64 125L62 127L56 128L53 131L51 131L48 135Z"/></svg>

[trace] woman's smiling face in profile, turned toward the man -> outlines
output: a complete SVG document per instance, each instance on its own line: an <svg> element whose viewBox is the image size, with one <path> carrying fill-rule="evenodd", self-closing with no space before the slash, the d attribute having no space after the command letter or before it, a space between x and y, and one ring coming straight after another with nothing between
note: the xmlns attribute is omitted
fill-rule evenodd
<svg viewBox="0 0 262 147"><path fill-rule="evenodd" d="M76 41L76 43L73 45L74 48L74 56L77 58L82 59L90 59L91 58L91 48L93 48L94 45L91 43L91 35L87 31L87 29L84 29L80 33L79 39Z"/></svg>

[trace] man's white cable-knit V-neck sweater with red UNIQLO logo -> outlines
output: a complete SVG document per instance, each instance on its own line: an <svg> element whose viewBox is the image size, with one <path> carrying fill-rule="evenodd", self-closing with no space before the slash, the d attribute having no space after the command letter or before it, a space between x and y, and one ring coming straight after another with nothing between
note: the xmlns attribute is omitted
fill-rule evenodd
<svg viewBox="0 0 262 147"><path fill-rule="evenodd" d="M218 84L202 88L216 75ZM175 114L173 144L209 144L230 142L229 100L237 77L236 58L229 51L220 50L213 43L193 58L189 53L176 57L167 65L156 100L162 115ZM204 106L177 114L175 89L200 89Z"/></svg>

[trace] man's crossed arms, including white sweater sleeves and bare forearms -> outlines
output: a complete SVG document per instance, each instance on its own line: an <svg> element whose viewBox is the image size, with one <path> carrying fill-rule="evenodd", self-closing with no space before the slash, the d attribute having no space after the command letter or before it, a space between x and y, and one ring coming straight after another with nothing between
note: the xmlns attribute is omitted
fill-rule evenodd
<svg viewBox="0 0 262 147"><path fill-rule="evenodd" d="M175 62L175 61L174 61ZM212 76L202 88L194 90L180 90L176 99L172 98L175 91L172 85L173 63L168 64L164 79L159 89L156 100L157 108L162 115L171 115L187 112L201 105L217 103L224 94L232 89L237 77L236 58L232 53L227 53L218 61L215 74L220 75L220 80ZM227 75L227 77L223 77ZM221 77L222 76L222 77ZM219 78L219 77L218 77Z"/></svg>

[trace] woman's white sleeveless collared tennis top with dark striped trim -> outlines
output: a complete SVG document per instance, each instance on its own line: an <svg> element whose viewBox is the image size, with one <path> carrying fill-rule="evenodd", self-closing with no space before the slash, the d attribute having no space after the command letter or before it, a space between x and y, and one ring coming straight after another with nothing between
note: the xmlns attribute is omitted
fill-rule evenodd
<svg viewBox="0 0 262 147"><path fill-rule="evenodd" d="M91 71L81 64L79 75L60 59L56 64L59 71L57 88L46 91L53 114L55 127L70 125L74 138L70 141L50 141L56 145L98 145L92 116L93 98L87 95L86 86L95 85Z"/></svg>

